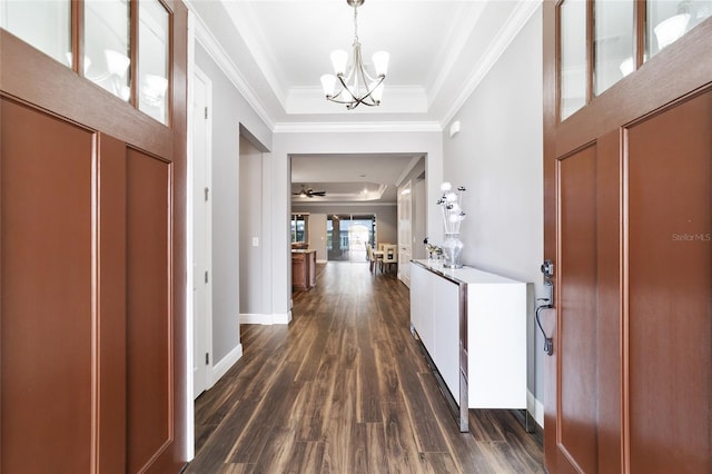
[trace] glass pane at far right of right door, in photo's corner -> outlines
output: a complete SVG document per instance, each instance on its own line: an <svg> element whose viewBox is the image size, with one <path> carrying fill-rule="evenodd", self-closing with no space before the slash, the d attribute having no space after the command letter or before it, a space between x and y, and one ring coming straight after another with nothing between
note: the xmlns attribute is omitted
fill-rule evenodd
<svg viewBox="0 0 712 474"><path fill-rule="evenodd" d="M645 29L646 59L678 41L710 14L712 14L712 0L649 0Z"/></svg>

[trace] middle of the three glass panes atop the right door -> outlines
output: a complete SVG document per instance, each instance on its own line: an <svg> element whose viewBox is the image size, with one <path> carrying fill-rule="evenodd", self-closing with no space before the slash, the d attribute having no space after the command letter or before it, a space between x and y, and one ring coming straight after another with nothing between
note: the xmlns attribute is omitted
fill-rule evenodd
<svg viewBox="0 0 712 474"><path fill-rule="evenodd" d="M593 80L596 96L635 69L633 6L633 0L594 3Z"/></svg>

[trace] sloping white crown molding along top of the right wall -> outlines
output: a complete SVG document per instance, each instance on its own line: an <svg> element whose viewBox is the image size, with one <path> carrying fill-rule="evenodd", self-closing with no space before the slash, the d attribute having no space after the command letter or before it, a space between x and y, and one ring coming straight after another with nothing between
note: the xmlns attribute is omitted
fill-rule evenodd
<svg viewBox="0 0 712 474"><path fill-rule="evenodd" d="M479 82L487 76L490 69L497 62L500 57L506 51L510 43L516 38L522 28L526 24L526 22L532 18L532 14L538 9L542 0L527 0L520 1L516 4L516 8L510 14L507 20L504 22L503 28L500 30L498 34L494 38L490 47L483 55L483 59L479 61L477 67L472 71L467 80L465 81L465 86L457 95L453 105L449 107L447 113L441 120L441 128L445 129L447 124L455 117L455 115L459 111L459 109L465 105L469 96L475 91Z"/></svg>

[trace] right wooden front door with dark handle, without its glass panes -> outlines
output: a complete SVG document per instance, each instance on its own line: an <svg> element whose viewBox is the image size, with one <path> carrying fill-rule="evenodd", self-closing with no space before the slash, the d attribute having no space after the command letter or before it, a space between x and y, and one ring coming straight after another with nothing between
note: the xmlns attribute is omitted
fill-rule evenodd
<svg viewBox="0 0 712 474"><path fill-rule="evenodd" d="M712 472L712 21L564 121L544 4L551 473Z"/></svg>

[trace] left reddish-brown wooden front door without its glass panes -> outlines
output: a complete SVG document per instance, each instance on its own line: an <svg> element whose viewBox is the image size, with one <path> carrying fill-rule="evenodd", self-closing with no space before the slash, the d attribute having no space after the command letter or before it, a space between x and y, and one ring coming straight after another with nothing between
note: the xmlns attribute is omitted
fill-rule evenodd
<svg viewBox="0 0 712 474"><path fill-rule="evenodd" d="M169 3L168 126L0 30L3 473L186 462L187 11Z"/></svg>

